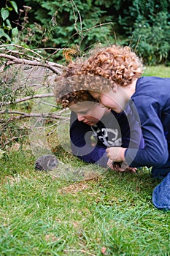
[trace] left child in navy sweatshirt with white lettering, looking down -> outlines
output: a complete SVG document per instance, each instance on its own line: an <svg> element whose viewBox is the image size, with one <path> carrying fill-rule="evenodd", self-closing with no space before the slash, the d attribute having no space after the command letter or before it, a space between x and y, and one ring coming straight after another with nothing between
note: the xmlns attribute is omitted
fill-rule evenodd
<svg viewBox="0 0 170 256"><path fill-rule="evenodd" d="M61 84L59 83L59 87ZM60 88L59 88L60 89ZM74 91L65 94L66 91L58 91L55 86L57 103L63 108L72 110L70 120L70 138L72 152L85 162L96 163L103 167L110 167L117 171L136 172L133 167L120 167L113 165L112 160L107 157L108 146L143 146L143 140L139 145L139 133L141 129L136 125L134 116L128 118L125 113L115 113L115 111L100 105L88 93L88 91ZM136 138L130 143L131 133L136 134ZM139 132L137 131L139 129ZM91 137L95 139L92 145Z"/></svg>

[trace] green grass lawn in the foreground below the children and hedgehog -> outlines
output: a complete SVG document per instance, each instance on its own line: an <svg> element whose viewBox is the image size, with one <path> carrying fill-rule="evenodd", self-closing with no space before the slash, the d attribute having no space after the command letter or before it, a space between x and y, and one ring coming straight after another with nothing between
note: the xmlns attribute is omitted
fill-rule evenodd
<svg viewBox="0 0 170 256"><path fill-rule="evenodd" d="M28 149L0 159L0 255L170 255L170 212L152 205L149 169L114 173L55 154L63 163L51 173L34 170Z"/></svg>

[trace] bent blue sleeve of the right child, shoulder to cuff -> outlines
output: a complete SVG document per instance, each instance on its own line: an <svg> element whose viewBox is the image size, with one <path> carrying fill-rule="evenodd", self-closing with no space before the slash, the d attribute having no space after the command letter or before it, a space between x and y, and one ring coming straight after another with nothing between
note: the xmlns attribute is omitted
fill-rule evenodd
<svg viewBox="0 0 170 256"><path fill-rule="evenodd" d="M161 107L157 99L147 95L136 96L133 100L141 121L144 148L128 148L125 160L131 167L164 165L169 151L161 122Z"/></svg>

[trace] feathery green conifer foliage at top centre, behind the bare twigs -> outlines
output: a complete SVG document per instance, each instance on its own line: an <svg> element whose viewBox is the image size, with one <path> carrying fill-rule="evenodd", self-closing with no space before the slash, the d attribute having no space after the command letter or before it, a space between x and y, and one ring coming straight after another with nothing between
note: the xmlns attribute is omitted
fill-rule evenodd
<svg viewBox="0 0 170 256"><path fill-rule="evenodd" d="M79 45L83 50L111 38L112 16L98 3L80 0L25 1L32 8L32 15L29 15L31 24L34 20L41 26L37 29L31 25L31 29L36 29L32 42L40 42L41 39L41 47L70 48Z"/></svg>

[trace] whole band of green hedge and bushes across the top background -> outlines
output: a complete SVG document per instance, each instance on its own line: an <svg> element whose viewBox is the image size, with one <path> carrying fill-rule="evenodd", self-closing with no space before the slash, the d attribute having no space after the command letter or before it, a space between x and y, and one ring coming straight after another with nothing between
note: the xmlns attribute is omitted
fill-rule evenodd
<svg viewBox="0 0 170 256"><path fill-rule="evenodd" d="M7 0L1 8L4 42L48 48L48 55L54 48L74 47L75 56L98 43L118 43L131 45L147 65L170 64L169 0L24 0L19 31L9 18L12 10L18 12L16 3ZM63 59L62 50L50 58Z"/></svg>

